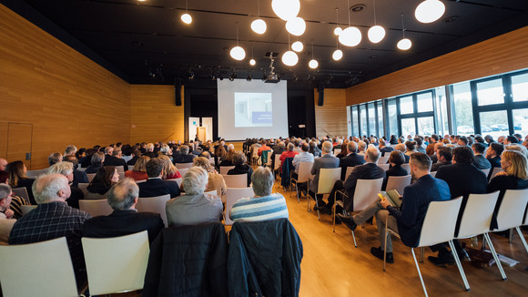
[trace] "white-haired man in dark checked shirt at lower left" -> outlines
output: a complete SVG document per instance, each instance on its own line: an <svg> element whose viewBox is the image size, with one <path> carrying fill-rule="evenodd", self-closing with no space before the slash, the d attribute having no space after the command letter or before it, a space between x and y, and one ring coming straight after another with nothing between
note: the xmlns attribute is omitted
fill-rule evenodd
<svg viewBox="0 0 528 297"><path fill-rule="evenodd" d="M85 220L91 216L66 205L71 191L68 179L62 174L50 173L37 177L33 183L33 194L38 206L15 222L9 235L9 244L49 241L66 236L79 285L86 280L81 232Z"/></svg>

